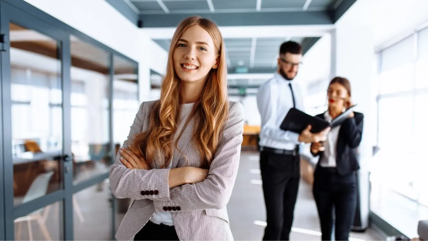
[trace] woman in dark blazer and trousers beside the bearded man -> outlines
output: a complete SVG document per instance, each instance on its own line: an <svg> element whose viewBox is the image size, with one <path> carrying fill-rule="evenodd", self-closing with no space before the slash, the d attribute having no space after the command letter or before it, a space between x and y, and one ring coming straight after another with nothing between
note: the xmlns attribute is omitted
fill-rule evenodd
<svg viewBox="0 0 428 241"><path fill-rule="evenodd" d="M331 80L328 110L317 117L331 121L352 106L351 84L342 77ZM327 134L324 143L312 143L320 156L314 173L313 194L321 223L322 240L331 240L333 212L335 240L348 240L357 205L356 171L360 169L356 149L363 132L363 114L351 112L341 126ZM334 211L333 211L334 210Z"/></svg>

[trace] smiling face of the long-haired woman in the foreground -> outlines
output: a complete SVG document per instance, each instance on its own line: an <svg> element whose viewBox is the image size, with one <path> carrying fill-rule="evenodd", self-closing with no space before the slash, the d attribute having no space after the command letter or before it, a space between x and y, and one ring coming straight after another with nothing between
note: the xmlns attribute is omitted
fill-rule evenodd
<svg viewBox="0 0 428 241"><path fill-rule="evenodd" d="M209 71L218 67L213 39L199 25L189 27L180 36L172 60L175 73L187 83L205 82Z"/></svg>

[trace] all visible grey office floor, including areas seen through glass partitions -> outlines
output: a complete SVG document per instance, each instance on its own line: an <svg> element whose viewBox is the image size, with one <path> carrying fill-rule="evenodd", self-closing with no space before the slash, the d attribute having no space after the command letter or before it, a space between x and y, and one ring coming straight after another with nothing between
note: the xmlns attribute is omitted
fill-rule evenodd
<svg viewBox="0 0 428 241"><path fill-rule="evenodd" d="M75 240L107 240L111 232L111 203L108 181L104 188L89 187L75 194L74 238ZM59 206L58 206L59 207ZM45 220L52 240L61 240L60 208L52 205ZM235 240L261 240L265 224L265 206L259 174L259 156L256 152L243 152L238 177L227 205L230 226ZM120 220L123 215L116 216ZM31 222L33 240L46 240L37 221ZM291 240L320 240L318 216L310 187L300 183L299 196L294 212ZM27 222L21 223L21 240L28 240ZM15 224L15 238L18 223ZM351 241L379 240L372 229L364 233L351 233Z"/></svg>

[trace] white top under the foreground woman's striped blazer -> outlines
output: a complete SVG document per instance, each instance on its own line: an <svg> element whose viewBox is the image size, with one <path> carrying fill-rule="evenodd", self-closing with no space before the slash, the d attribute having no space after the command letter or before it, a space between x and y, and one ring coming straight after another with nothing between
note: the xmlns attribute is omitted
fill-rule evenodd
<svg viewBox="0 0 428 241"><path fill-rule="evenodd" d="M180 108L180 116L178 118L178 125L174 132L174 138L172 140L172 156L174 155L175 150L175 142L177 141L178 135L181 133L181 131L184 128L184 124L187 122L187 118L190 116L190 113L192 112L194 103L190 104L181 104ZM166 168L172 168L172 161L169 162L168 167ZM152 223L160 224L163 223L168 226L174 226L174 223L172 222L172 214L170 212L155 212L153 217L150 219Z"/></svg>

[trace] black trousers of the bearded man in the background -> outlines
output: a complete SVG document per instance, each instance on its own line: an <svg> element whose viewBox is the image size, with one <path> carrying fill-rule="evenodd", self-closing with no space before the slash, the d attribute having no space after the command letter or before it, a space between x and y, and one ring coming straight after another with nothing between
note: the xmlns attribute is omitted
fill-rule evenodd
<svg viewBox="0 0 428 241"><path fill-rule="evenodd" d="M300 181L300 156L260 152L266 228L263 240L290 240Z"/></svg>

